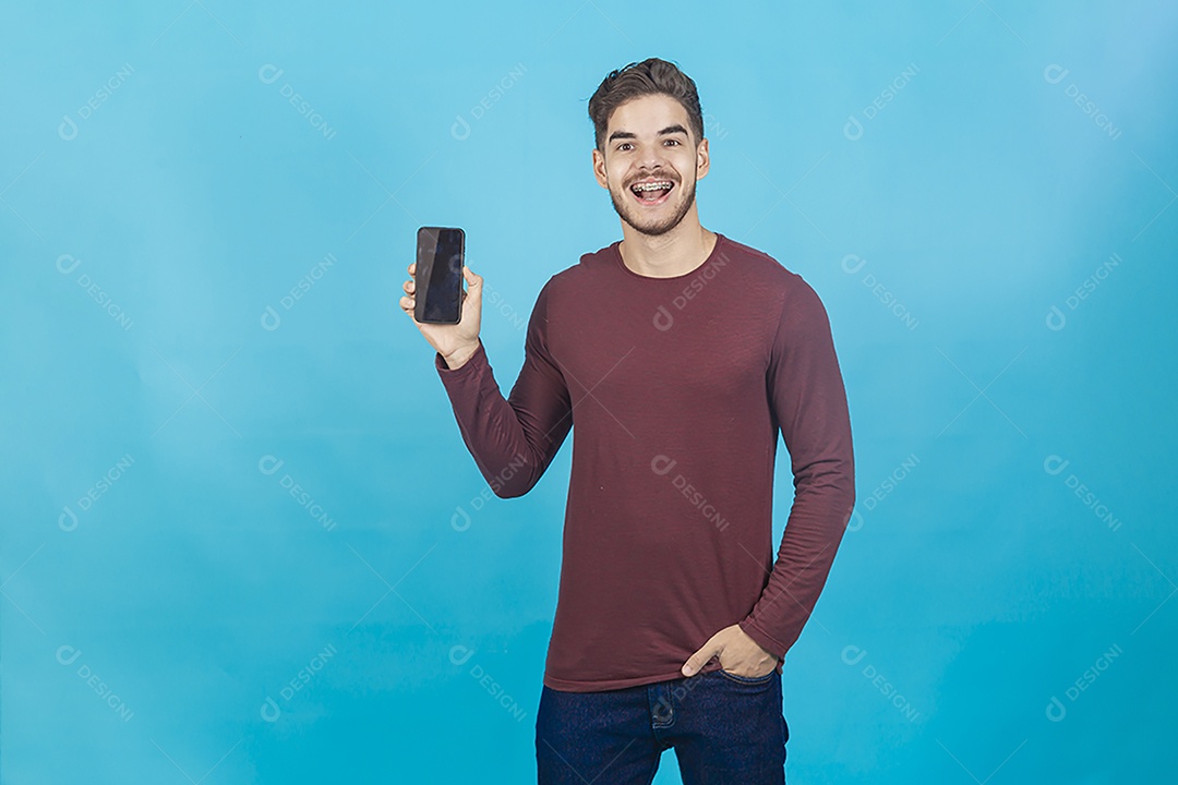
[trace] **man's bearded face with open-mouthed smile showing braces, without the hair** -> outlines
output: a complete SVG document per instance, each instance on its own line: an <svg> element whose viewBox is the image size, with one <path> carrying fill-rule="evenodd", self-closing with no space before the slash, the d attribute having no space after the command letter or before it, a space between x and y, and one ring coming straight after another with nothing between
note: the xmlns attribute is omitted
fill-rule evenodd
<svg viewBox="0 0 1178 785"><path fill-rule="evenodd" d="M696 148L690 134L687 109L669 95L631 99L610 115L604 155L593 152L594 174L635 231L669 232L695 204L695 181L708 173L708 140ZM670 191L634 191L644 182L669 182Z"/></svg>

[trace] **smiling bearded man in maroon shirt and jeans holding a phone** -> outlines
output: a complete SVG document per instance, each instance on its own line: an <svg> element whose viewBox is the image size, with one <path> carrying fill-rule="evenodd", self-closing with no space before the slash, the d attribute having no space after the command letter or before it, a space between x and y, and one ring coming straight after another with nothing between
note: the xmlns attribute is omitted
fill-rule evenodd
<svg viewBox="0 0 1178 785"><path fill-rule="evenodd" d="M576 424L540 783L650 783L666 749L684 783L783 783L782 661L855 495L826 310L700 225L708 140L675 65L611 72L589 115L623 239L541 290L509 398L478 341L479 275L463 271L457 325L415 320L497 495L527 493ZM774 563L779 430L795 495Z"/></svg>

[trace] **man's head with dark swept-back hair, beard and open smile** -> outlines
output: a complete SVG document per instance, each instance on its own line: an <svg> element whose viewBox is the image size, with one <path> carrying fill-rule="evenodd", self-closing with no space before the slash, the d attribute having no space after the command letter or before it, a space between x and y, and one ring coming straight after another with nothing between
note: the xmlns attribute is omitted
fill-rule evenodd
<svg viewBox="0 0 1178 785"><path fill-rule="evenodd" d="M589 117L594 173L621 219L650 235L679 226L695 206L695 181L708 172L695 82L666 60L631 62L605 76L589 99ZM669 193L634 191L659 181L671 185ZM659 198L643 200L641 193Z"/></svg>

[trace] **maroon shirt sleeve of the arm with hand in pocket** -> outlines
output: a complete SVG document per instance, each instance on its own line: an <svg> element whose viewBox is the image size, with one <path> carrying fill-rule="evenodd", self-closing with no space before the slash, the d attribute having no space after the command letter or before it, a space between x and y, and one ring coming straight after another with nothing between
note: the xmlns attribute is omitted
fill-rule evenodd
<svg viewBox="0 0 1178 785"><path fill-rule="evenodd" d="M794 503L765 591L740 623L779 659L814 610L855 504L851 417L829 319L818 293L794 275L766 379L789 451Z"/></svg>

